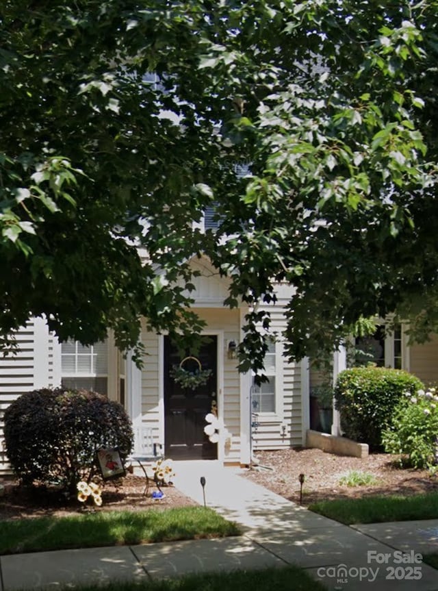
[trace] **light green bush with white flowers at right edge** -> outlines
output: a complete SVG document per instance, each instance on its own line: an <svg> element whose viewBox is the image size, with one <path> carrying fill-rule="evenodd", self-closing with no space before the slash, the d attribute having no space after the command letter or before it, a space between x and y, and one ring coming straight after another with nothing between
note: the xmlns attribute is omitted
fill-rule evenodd
<svg viewBox="0 0 438 591"><path fill-rule="evenodd" d="M438 464L438 396L435 388L419 390L400 401L392 425L383 432L385 450L407 455L414 468Z"/></svg>

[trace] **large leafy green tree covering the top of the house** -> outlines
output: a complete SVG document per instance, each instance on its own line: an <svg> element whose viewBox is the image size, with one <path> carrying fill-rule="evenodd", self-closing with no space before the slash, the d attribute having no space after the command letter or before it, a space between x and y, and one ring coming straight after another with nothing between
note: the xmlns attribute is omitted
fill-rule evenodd
<svg viewBox="0 0 438 591"><path fill-rule="evenodd" d="M141 316L190 338L200 253L231 277L227 305L295 286L291 358L339 344L361 314L395 312L424 337L438 325L437 13L426 0L3 3L3 338L30 314L84 343L110 327L132 347ZM216 234L190 225L207 205ZM242 370L261 366L269 316L246 320Z"/></svg>

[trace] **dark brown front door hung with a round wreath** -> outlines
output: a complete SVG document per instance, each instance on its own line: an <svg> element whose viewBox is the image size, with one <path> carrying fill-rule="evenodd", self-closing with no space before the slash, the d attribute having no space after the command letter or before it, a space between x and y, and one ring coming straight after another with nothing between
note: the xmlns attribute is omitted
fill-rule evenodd
<svg viewBox="0 0 438 591"><path fill-rule="evenodd" d="M216 460L218 444L211 443L204 433L205 415L216 403L218 370L218 339L205 336L194 354L181 356L170 338L164 337L164 446L166 457L172 460ZM183 368L189 373L210 370L207 382L196 388L182 386L175 381L172 370Z"/></svg>

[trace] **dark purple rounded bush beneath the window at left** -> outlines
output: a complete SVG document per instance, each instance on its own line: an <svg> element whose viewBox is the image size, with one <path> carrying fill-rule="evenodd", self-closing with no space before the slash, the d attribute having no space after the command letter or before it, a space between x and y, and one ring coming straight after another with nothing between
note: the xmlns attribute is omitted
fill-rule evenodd
<svg viewBox="0 0 438 591"><path fill-rule="evenodd" d="M5 411L5 449L24 484L57 484L73 492L99 447L132 449L123 407L86 390L34 390Z"/></svg>

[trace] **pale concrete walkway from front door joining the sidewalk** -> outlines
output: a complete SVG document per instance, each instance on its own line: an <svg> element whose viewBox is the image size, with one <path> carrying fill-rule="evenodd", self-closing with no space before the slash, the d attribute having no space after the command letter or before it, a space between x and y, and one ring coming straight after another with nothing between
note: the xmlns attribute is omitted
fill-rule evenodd
<svg viewBox="0 0 438 591"><path fill-rule="evenodd" d="M243 535L0 557L0 591L75 588L191 572L296 564L331 590L438 591L438 519L347 527L290 503L217 462L176 462L177 487L235 520ZM291 586L291 591L293 587ZM242 590L244 591L244 590ZM257 590L254 590L257 591Z"/></svg>

